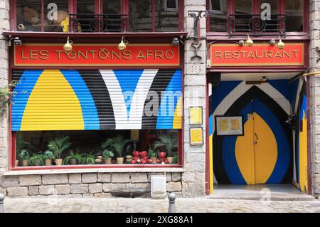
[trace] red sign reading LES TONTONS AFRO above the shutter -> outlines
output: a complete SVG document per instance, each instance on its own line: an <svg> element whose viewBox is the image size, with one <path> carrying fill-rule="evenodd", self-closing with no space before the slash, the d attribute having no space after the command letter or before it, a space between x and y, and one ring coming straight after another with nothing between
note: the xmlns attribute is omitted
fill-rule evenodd
<svg viewBox="0 0 320 227"><path fill-rule="evenodd" d="M27 43L14 46L16 66L178 66L179 47L171 44L129 44L119 51L117 44Z"/></svg>

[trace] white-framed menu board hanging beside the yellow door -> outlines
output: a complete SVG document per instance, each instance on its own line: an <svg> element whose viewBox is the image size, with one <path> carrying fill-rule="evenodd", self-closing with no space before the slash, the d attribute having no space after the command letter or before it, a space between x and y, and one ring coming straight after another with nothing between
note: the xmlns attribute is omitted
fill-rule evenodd
<svg viewBox="0 0 320 227"><path fill-rule="evenodd" d="M218 136L243 135L243 116L215 116Z"/></svg>

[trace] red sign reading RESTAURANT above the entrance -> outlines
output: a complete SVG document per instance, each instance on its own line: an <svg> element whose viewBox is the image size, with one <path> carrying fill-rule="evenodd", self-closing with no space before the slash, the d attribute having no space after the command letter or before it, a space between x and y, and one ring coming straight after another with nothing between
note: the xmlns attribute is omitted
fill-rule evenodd
<svg viewBox="0 0 320 227"><path fill-rule="evenodd" d="M211 67L216 66L274 66L304 65L304 43L285 43L283 49L277 45L254 43L253 46L238 44L211 44Z"/></svg>

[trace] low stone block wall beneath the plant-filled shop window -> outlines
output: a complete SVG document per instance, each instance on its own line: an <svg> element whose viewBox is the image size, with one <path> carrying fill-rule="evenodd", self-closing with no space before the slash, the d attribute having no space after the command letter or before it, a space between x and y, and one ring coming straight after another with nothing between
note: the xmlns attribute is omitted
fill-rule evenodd
<svg viewBox="0 0 320 227"><path fill-rule="evenodd" d="M162 173L86 173L5 176L1 193L18 196L149 197L150 176ZM181 173L166 173L167 192L182 196Z"/></svg>

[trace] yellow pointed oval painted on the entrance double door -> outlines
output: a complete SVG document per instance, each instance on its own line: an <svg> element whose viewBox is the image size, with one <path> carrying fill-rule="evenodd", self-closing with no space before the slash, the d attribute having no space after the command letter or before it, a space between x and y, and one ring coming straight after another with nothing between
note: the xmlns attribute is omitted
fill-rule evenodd
<svg viewBox="0 0 320 227"><path fill-rule="evenodd" d="M247 184L265 184L277 162L277 141L256 112L247 116L244 135L235 143L235 157Z"/></svg>

